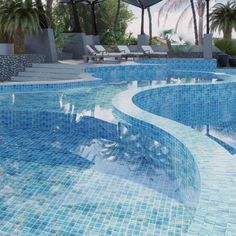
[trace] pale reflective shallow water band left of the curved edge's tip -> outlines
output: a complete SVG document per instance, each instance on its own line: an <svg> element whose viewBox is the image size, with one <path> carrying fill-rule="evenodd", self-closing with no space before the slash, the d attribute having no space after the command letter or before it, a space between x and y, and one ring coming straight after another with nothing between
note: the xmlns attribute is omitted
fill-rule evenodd
<svg viewBox="0 0 236 236"><path fill-rule="evenodd" d="M134 78L132 76L132 79ZM166 80L150 80L150 78L152 77L148 77L147 80L139 79L136 81L117 80L119 83L108 81L109 84L95 88L83 87L53 92L2 94L0 95L0 106L5 110L37 110L63 112L65 114L78 113L80 115L87 111L85 114L94 115L101 119L105 117L107 121L117 122L115 117L111 115L113 97L127 89L167 83ZM192 83L194 80L171 77L168 83ZM200 81L207 81L207 79Z"/></svg>

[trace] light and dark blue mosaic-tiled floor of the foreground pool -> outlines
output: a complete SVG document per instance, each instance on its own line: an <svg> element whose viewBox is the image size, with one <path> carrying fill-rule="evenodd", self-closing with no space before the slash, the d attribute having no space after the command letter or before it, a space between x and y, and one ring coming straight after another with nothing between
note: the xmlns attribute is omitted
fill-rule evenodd
<svg viewBox="0 0 236 236"><path fill-rule="evenodd" d="M194 215L115 142L2 128L0 150L1 235L181 235Z"/></svg>

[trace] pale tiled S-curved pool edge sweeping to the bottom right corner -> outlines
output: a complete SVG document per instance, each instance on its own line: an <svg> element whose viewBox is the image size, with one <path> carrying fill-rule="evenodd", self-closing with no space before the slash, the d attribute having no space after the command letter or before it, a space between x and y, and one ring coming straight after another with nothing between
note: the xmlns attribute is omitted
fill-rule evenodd
<svg viewBox="0 0 236 236"><path fill-rule="evenodd" d="M152 89L158 89L158 86ZM201 191L188 234L235 235L236 186L233 179L236 179L236 163L232 155L219 144L190 127L151 114L136 106L133 97L147 90L150 88L122 92L113 99L113 105L126 116L164 130L179 140L194 157L200 172Z"/></svg>

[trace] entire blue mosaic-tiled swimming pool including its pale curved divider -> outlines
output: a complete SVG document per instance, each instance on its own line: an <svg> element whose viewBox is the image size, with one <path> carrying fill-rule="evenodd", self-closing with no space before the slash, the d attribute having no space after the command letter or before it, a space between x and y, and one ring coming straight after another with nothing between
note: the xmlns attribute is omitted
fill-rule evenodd
<svg viewBox="0 0 236 236"><path fill-rule="evenodd" d="M85 73L1 87L0 234L234 235L234 73L214 60Z"/></svg>

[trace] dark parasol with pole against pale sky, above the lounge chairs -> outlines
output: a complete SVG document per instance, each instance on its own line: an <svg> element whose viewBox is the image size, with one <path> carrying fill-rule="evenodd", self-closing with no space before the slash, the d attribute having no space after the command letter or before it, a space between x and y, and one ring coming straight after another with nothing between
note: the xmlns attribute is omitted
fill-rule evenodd
<svg viewBox="0 0 236 236"><path fill-rule="evenodd" d="M145 9L148 7L151 7L162 0L122 0L128 4L131 4L133 6L139 7L142 10L142 15L141 15L141 34L144 34L144 12Z"/></svg>

